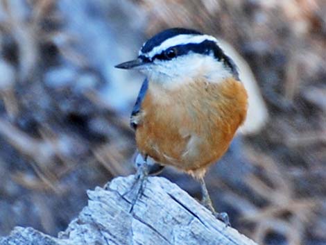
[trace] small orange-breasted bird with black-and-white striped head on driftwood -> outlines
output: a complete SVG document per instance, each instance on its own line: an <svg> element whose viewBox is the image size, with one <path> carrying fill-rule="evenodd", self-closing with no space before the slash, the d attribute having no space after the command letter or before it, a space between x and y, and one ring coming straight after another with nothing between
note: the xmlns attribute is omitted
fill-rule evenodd
<svg viewBox="0 0 326 245"><path fill-rule="evenodd" d="M246 119L248 95L232 58L212 35L169 28L147 40L135 60L115 67L146 76L130 117L143 166L151 158L159 171L172 166L190 174L203 205L230 224L228 214L214 210L204 177Z"/></svg>

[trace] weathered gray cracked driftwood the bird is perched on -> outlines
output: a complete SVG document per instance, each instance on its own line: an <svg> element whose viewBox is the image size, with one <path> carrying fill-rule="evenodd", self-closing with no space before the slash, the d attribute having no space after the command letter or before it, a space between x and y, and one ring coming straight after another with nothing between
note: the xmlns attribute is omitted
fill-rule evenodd
<svg viewBox="0 0 326 245"><path fill-rule="evenodd" d="M257 245L213 215L165 178L149 177L130 213L135 177L120 177L88 191L87 207L58 238L17 227L0 244L148 244ZM135 191L135 188L134 188ZM127 193L127 194L126 194ZM126 195L123 195L126 194Z"/></svg>

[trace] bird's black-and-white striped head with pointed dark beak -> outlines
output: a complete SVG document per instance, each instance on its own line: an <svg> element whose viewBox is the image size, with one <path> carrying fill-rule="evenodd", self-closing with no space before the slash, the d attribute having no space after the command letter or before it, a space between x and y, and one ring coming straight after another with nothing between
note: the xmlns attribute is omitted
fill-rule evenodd
<svg viewBox="0 0 326 245"><path fill-rule="evenodd" d="M116 66L137 69L149 81L164 87L204 77L212 83L238 77L237 67L211 35L185 28L170 28L144 43L136 60Z"/></svg>

